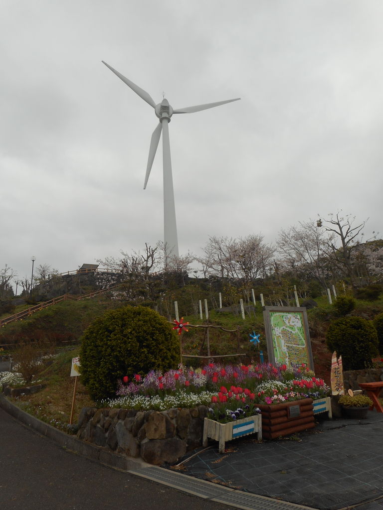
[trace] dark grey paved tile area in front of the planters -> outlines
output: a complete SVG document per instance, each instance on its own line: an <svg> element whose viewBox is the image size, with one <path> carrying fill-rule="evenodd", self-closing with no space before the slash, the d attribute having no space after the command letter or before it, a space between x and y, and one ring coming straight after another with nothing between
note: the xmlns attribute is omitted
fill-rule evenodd
<svg viewBox="0 0 383 510"><path fill-rule="evenodd" d="M257 443L248 436L226 443L224 454L212 442L184 458L182 472L313 508L383 510L382 414L325 420L298 437Z"/></svg>

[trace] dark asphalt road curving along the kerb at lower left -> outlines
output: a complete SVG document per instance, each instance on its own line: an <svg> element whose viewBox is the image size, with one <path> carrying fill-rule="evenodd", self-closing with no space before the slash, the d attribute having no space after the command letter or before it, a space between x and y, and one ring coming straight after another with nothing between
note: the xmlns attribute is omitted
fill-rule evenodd
<svg viewBox="0 0 383 510"><path fill-rule="evenodd" d="M2 510L227 510L62 449L0 409Z"/></svg>

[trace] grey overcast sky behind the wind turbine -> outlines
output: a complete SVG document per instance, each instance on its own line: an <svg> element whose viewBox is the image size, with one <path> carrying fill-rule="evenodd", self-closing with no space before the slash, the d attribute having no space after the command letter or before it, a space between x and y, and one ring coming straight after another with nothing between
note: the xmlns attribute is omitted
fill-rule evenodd
<svg viewBox="0 0 383 510"><path fill-rule="evenodd" d="M383 216L381 0L3 0L0 269L60 272L163 239L153 109L173 108L180 254L342 209ZM36 267L36 266L35 266Z"/></svg>

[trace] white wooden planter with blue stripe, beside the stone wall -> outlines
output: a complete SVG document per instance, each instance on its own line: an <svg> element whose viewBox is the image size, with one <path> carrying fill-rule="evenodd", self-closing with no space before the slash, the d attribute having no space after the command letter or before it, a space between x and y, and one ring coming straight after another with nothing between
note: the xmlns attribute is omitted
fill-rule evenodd
<svg viewBox="0 0 383 510"><path fill-rule="evenodd" d="M220 423L218 421L204 419L202 445L207 446L207 438L219 441L220 453L225 452L225 441L242 438L256 432L257 439L262 439L261 416L249 416L241 420L231 421L229 423Z"/></svg>

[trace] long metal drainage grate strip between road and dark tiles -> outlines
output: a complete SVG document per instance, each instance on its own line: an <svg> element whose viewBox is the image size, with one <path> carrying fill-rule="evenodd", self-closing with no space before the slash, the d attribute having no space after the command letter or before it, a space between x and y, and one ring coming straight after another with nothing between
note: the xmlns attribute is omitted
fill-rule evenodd
<svg viewBox="0 0 383 510"><path fill-rule="evenodd" d="M250 492L237 491L157 466L130 469L129 473L148 478L149 480L199 496L200 498L210 499L217 503L231 505L235 508L243 508L244 510L314 510L308 506L297 505L288 501L280 501Z"/></svg>

